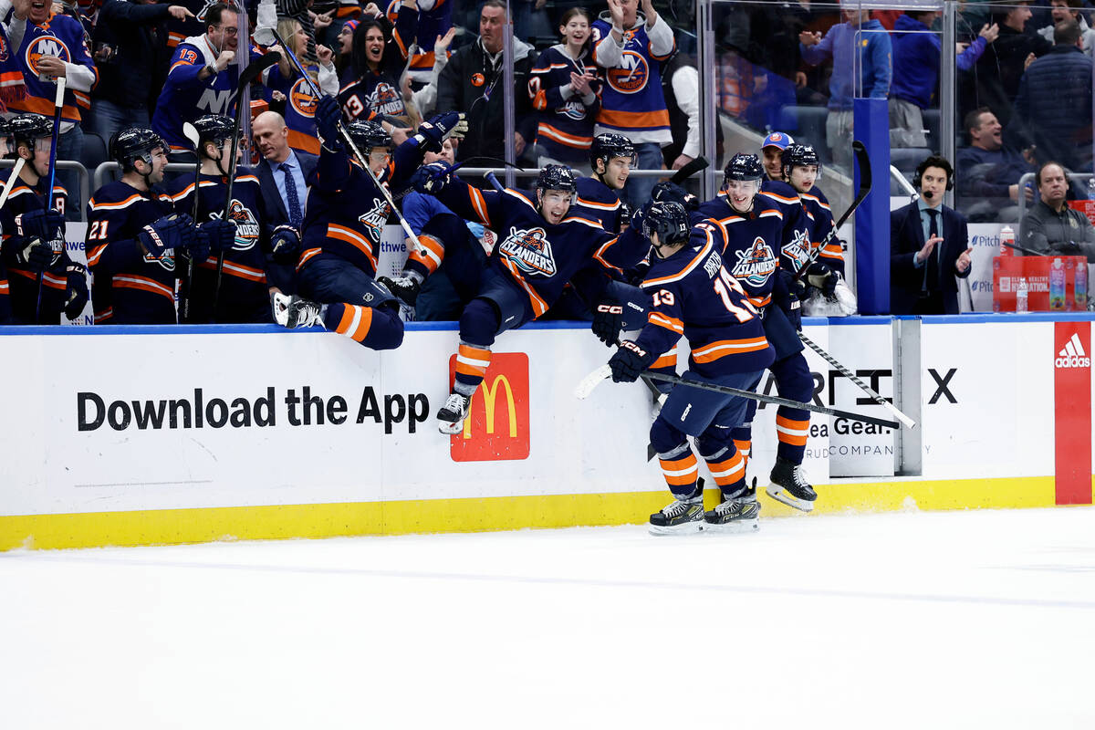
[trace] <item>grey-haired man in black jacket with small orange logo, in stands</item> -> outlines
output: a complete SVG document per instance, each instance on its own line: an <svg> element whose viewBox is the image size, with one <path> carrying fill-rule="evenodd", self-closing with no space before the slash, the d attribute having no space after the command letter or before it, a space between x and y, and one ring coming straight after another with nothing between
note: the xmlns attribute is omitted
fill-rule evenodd
<svg viewBox="0 0 1095 730"><path fill-rule="evenodd" d="M457 159L504 157L507 147L505 107L514 105L514 154L520 158L535 135L535 116L529 100L529 72L533 48L514 38L514 88L503 84L503 34L506 3L486 0L480 12L480 38L452 55L441 71L437 88L437 111L463 112L468 136L457 148Z"/></svg>

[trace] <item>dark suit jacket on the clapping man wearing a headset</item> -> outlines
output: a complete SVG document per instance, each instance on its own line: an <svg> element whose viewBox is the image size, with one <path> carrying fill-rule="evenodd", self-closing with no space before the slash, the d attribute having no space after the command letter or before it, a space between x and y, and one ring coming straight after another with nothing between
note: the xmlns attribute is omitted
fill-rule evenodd
<svg viewBox="0 0 1095 730"><path fill-rule="evenodd" d="M965 279L972 267L958 274L955 263L961 252L969 247L966 217L953 208L942 206L940 235L943 242L936 244L932 256L941 256L937 281L929 281L930 291L942 291L947 314L958 314L958 282ZM938 246L943 246L940 252ZM890 211L890 313L912 314L924 281L923 267L917 268L913 257L924 247L924 229L920 222L920 207L917 201ZM937 253L938 252L938 253ZM926 265L926 264L925 264Z"/></svg>

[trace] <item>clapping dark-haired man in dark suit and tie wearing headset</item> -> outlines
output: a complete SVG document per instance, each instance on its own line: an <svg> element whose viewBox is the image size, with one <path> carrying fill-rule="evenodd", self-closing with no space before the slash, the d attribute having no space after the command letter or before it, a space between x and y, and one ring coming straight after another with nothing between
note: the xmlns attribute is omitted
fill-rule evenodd
<svg viewBox="0 0 1095 730"><path fill-rule="evenodd" d="M966 218L943 205L954 169L931 155L917 167L920 199L890 212L890 312L958 314L958 283L970 271Z"/></svg>

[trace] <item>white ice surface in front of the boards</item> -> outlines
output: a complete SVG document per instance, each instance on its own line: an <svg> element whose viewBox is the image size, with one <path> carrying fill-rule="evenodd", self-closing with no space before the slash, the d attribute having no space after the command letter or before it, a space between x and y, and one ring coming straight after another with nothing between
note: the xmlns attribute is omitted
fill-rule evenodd
<svg viewBox="0 0 1095 730"><path fill-rule="evenodd" d="M1095 509L0 554L0 728L1095 728Z"/></svg>

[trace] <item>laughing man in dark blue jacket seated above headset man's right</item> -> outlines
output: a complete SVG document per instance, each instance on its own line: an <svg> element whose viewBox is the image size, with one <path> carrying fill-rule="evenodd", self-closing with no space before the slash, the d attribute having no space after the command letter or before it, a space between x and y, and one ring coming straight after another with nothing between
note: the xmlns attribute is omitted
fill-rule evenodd
<svg viewBox="0 0 1095 730"><path fill-rule="evenodd" d="M1003 127L988 106L966 115L969 147L958 150L955 178L958 209L971 223L1018 221L1019 177L1034 172L1034 151L1016 154L1003 146ZM1034 187L1023 190L1027 202Z"/></svg>

